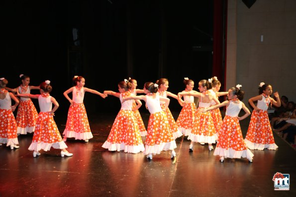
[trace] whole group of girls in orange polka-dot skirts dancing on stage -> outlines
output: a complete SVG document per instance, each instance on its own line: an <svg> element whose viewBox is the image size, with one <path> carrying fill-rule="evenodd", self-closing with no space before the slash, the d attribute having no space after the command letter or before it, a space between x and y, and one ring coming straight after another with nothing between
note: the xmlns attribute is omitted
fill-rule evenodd
<svg viewBox="0 0 296 197"><path fill-rule="evenodd" d="M85 142L93 138L83 104L85 92L98 94L102 98L113 95L120 100L121 108L102 145L109 151L143 152L149 160L152 160L153 155L170 150L171 158L174 158L176 157L174 149L177 147L175 139L184 135L191 140L190 152L194 151L195 142L207 143L209 151L214 149L212 144L217 143L213 154L220 156L220 162L225 158L242 157L252 162L254 155L250 149L278 148L267 109L270 104L280 107L281 100L277 92L274 93L275 99L270 97L272 86L263 82L259 85L259 95L249 99L254 110L244 139L239 121L251 113L241 101L244 91L239 84L230 88L228 92L219 92L221 83L214 76L208 80L200 80L197 92L193 90L194 81L184 78L185 90L176 95L167 91L169 87L167 78L161 78L155 83L146 82L143 89L137 89L137 81L129 78L118 83L118 92L105 90L100 93L84 87L84 77L74 76L74 86L64 92L71 105L62 138L53 119L59 104L49 94L52 90L50 81L46 80L39 86L29 86L29 76L21 74L20 78L20 86L14 89L6 87L8 81L0 78L0 145L6 143L11 149L19 148L17 135L34 132L32 143L28 148L33 151L33 157L39 156L40 150L48 151L51 147L61 149L62 157L72 156L73 154L66 149L67 138L75 137ZM30 94L31 89L40 89L40 94ZM72 98L68 96L71 92ZM140 93L144 95L137 95ZM227 95L227 100L220 103L218 97L223 95ZM177 99L183 106L177 121L169 109L168 97ZM194 97L199 100L198 108ZM39 115L30 98L38 99ZM15 102L13 106L11 99ZM145 101L145 106L150 112L147 130L138 110L142 106L141 100ZM17 105L19 106L14 119L12 112ZM219 108L223 106L226 106L226 113L222 120ZM245 114L239 117L241 109ZM145 146L142 140L144 136Z"/></svg>

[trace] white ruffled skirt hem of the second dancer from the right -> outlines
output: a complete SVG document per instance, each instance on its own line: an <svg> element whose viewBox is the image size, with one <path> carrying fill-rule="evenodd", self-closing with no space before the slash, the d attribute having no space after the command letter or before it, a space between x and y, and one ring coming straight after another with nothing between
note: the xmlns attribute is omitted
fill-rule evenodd
<svg viewBox="0 0 296 197"><path fill-rule="evenodd" d="M225 158L247 158L253 159L254 154L247 148L246 150L233 150L232 148L220 148L216 147L214 151L214 155L219 155L220 157Z"/></svg>

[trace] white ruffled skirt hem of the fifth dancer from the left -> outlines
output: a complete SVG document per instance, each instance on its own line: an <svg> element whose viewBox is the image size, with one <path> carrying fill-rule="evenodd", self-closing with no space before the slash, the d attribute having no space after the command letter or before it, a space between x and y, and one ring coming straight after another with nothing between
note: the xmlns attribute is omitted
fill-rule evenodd
<svg viewBox="0 0 296 197"><path fill-rule="evenodd" d="M119 143L111 143L108 141L105 141L102 147L107 148L109 151L124 150L124 152L127 152L127 153L139 153L145 150L144 144L131 146L131 145L125 145L124 143L119 144Z"/></svg>

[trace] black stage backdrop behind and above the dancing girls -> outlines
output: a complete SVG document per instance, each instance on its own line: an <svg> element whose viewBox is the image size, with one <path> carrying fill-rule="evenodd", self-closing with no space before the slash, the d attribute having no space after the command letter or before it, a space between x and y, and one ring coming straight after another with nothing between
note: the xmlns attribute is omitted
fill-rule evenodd
<svg viewBox="0 0 296 197"><path fill-rule="evenodd" d="M82 75L86 87L118 91L117 83L132 77L169 79L169 89L182 91L184 77L198 81L212 76L213 0L4 0L4 56L1 76L8 87L50 80L66 120L69 102L63 92L72 77ZM221 16L222 17L222 16ZM38 91L32 91L32 94ZM86 93L88 114L117 113L119 99ZM34 101L37 110L38 104ZM146 111L142 107L143 111ZM171 99L171 111L180 112Z"/></svg>

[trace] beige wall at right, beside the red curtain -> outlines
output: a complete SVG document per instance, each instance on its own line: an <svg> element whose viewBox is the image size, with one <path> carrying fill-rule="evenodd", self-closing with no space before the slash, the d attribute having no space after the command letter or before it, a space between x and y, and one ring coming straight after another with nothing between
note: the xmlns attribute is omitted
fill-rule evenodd
<svg viewBox="0 0 296 197"><path fill-rule="evenodd" d="M263 81L296 102L296 0L228 0L227 15L226 88L242 84L247 104Z"/></svg>

